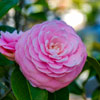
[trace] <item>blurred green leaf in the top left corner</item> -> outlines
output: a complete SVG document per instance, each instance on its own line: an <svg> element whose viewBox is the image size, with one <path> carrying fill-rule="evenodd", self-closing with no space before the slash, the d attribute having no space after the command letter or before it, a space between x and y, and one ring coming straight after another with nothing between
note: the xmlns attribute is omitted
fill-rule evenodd
<svg viewBox="0 0 100 100"><path fill-rule="evenodd" d="M0 19L18 2L19 0L0 0Z"/></svg>

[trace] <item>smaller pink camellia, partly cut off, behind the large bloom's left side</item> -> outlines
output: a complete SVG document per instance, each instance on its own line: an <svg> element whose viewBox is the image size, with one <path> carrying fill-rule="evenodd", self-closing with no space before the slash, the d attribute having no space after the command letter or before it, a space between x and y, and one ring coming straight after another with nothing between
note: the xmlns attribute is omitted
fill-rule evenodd
<svg viewBox="0 0 100 100"><path fill-rule="evenodd" d="M9 32L2 32L0 31L0 53L5 55L8 59L14 60L15 59L15 45L21 35L17 34L17 31L13 33Z"/></svg>

